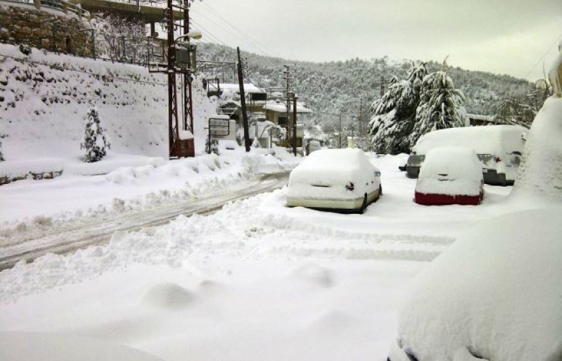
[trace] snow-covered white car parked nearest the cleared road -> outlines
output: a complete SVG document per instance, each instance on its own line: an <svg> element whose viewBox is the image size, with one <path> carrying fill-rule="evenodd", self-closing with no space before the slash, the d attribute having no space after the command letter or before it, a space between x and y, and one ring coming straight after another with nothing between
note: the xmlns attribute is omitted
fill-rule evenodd
<svg viewBox="0 0 562 361"><path fill-rule="evenodd" d="M287 205L364 212L382 194L380 170L359 149L321 149L289 176Z"/></svg>

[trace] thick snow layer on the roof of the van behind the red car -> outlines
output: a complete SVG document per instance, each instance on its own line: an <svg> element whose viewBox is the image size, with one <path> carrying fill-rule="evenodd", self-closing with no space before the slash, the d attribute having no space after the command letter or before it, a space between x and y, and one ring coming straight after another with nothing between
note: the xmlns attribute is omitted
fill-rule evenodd
<svg viewBox="0 0 562 361"><path fill-rule="evenodd" d="M438 146L468 146L479 154L522 152L524 131L509 125L440 129L420 137L412 151L427 154Z"/></svg>

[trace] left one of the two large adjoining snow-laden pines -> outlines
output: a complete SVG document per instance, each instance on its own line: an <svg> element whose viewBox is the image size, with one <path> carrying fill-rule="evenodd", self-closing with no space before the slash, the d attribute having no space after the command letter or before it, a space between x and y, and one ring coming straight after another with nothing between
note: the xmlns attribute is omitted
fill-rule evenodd
<svg viewBox="0 0 562 361"><path fill-rule="evenodd" d="M409 153L420 88L427 69L423 62L412 64L407 79L393 77L388 91L373 102L369 122L371 140L377 153Z"/></svg>

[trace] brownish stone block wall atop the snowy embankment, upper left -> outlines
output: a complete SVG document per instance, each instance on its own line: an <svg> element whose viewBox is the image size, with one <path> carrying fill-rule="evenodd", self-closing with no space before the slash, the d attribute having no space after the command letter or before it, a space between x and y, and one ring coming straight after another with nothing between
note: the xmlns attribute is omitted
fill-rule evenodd
<svg viewBox="0 0 562 361"><path fill-rule="evenodd" d="M65 12L66 11L66 12ZM92 56L87 19L66 8L0 0L0 42L29 44L38 49Z"/></svg>

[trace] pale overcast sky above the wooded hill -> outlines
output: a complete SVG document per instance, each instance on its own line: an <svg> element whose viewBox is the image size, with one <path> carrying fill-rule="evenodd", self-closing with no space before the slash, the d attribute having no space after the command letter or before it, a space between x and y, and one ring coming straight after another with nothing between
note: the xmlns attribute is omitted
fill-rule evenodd
<svg viewBox="0 0 562 361"><path fill-rule="evenodd" d="M269 56L449 56L452 66L530 81L562 37L562 0L196 0L191 18L208 42Z"/></svg>

